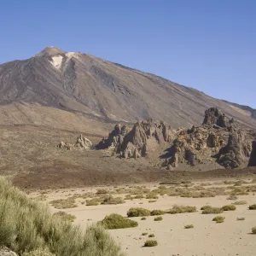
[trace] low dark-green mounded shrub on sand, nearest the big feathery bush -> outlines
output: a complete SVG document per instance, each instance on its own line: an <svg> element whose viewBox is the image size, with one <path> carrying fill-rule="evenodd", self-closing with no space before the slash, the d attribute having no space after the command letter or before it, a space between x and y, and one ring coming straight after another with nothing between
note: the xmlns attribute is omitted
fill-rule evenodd
<svg viewBox="0 0 256 256"><path fill-rule="evenodd" d="M129 218L124 218L123 216L113 213L106 216L100 224L106 230L117 230L117 229L127 229L137 227L137 221L131 220Z"/></svg>

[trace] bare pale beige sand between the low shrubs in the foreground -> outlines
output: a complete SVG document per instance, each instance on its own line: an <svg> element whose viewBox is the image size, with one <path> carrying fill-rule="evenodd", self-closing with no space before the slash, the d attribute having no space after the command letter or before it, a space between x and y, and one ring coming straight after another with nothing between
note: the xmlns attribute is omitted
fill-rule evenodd
<svg viewBox="0 0 256 256"><path fill-rule="evenodd" d="M152 184L147 186L151 187L151 189L155 187ZM47 194L47 201L67 198L67 195L75 193L95 193L96 189L51 191ZM248 204L236 206L236 211L218 214L225 217L222 224L216 224L212 221L216 214L201 214L200 208L204 205L210 204L212 207L223 207L232 203L233 201L227 200L227 197L227 195L219 195L213 198L182 198L162 195L154 203L148 203L146 199L137 199L125 201L125 204L121 205L88 207L79 204L79 207L65 209L64 211L75 215L75 224L80 224L85 229L88 224L102 220L106 215L113 212L125 216L131 207L166 210L173 205L195 206L198 212L165 214L163 215L163 220L159 222L154 221L154 216L147 217L146 220L132 218L138 222L136 228L109 230L109 232L120 242L123 251L128 256L253 256L256 253L256 236L253 236L250 232L252 227L256 226L256 211L248 210L248 205L256 203L256 195L253 193L240 195L239 200L245 200ZM53 212L60 211L53 207L51 209ZM245 220L237 221L236 218L239 217L243 217ZM186 224L194 224L195 228L186 230L184 229ZM158 241L158 246L143 247L144 241L148 240L148 236L142 236L143 232L154 234L155 237L153 239Z"/></svg>

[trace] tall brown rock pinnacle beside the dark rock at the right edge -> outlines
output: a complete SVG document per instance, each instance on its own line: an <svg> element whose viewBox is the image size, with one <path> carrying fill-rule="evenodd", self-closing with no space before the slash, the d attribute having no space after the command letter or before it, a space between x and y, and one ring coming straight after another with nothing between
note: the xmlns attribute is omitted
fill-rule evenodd
<svg viewBox="0 0 256 256"><path fill-rule="evenodd" d="M237 168L245 164L250 156L250 144L243 131L232 131L228 143L217 154L218 164L225 168Z"/></svg>

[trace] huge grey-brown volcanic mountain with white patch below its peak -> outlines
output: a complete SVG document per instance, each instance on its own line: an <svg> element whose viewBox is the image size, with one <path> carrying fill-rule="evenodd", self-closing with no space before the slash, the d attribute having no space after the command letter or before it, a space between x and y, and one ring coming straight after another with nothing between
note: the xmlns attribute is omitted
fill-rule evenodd
<svg viewBox="0 0 256 256"><path fill-rule="evenodd" d="M58 108L105 121L163 119L174 128L200 124L207 108L218 107L248 126L256 125L247 109L199 90L56 47L28 60L0 65L0 105L20 104Z"/></svg>

